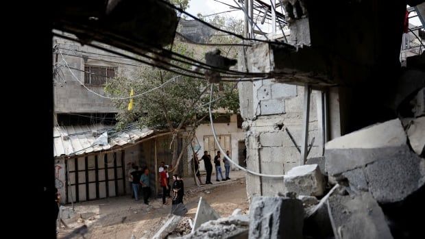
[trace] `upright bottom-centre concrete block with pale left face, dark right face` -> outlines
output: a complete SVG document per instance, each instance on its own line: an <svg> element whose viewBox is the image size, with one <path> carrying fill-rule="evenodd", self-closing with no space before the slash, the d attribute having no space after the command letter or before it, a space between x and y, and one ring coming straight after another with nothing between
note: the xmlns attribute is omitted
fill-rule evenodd
<svg viewBox="0 0 425 239"><path fill-rule="evenodd" d="M254 197L249 238L302 238L302 201L284 197Z"/></svg>

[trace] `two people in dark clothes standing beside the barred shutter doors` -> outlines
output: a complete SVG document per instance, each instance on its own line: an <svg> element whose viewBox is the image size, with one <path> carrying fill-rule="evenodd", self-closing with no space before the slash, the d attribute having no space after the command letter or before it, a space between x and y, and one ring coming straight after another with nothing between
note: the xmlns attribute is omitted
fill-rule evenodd
<svg viewBox="0 0 425 239"><path fill-rule="evenodd" d="M149 169L145 166L139 170L136 164L132 164L132 168L128 172L128 181L132 188L132 199L138 201L140 192L143 195L143 202L148 205L151 194L149 183Z"/></svg>

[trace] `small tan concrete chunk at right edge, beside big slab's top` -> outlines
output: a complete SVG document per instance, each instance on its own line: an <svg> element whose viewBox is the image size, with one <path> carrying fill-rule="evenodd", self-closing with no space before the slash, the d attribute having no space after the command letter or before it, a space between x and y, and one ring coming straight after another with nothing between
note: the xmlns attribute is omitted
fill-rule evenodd
<svg viewBox="0 0 425 239"><path fill-rule="evenodd" d="M409 123L407 137L410 145L417 155L424 155L425 151L425 116L415 118Z"/></svg>

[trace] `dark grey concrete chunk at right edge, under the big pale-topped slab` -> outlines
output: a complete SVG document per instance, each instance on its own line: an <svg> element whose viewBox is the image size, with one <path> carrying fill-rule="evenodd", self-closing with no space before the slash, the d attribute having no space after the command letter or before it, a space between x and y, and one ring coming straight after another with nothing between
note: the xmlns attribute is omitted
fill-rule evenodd
<svg viewBox="0 0 425 239"><path fill-rule="evenodd" d="M402 201L425 184L425 160L410 149L369 164L364 171L369 191L379 203Z"/></svg>

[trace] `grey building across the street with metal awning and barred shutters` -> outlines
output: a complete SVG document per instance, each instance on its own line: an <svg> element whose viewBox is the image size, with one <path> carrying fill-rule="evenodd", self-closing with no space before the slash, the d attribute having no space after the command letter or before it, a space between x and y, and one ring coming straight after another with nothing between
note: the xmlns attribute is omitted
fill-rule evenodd
<svg viewBox="0 0 425 239"><path fill-rule="evenodd" d="M53 155L56 188L64 195L63 202L129 194L131 188L126 175L132 163L148 166L151 181L155 182L151 190L160 194L162 191L156 180L158 167L162 161L171 165L173 155L169 145L173 137L160 130L140 129L136 125L115 131L115 116L119 109L111 99L101 97L108 97L104 92L108 80L114 77L132 79L141 64L95 47L82 46L73 40L55 37L52 43L55 71ZM243 164L245 134L241 123L237 114L223 114L217 118L215 126L221 145L230 151L234 160L241 159ZM102 134L106 134L106 144L95 145ZM210 124L199 125L195 135L193 145L198 157L201 158L204 151L214 156L218 147L210 132ZM183 132L178 140L178 153L186 152L185 162L179 164L178 173L191 176L193 153L191 147L182 149L184 137ZM199 165L199 170L205 171L204 163Z"/></svg>

